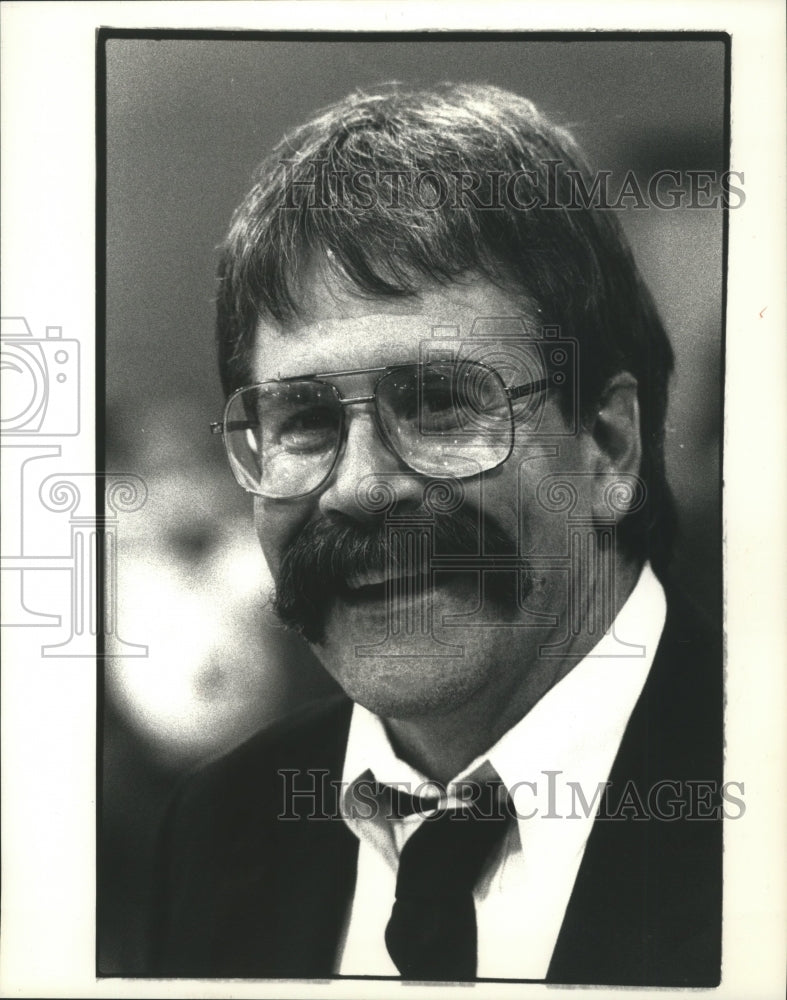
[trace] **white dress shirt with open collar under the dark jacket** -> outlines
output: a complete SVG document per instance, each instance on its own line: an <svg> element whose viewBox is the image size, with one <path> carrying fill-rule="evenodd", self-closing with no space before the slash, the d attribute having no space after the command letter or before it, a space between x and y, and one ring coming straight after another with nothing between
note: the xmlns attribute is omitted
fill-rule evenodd
<svg viewBox="0 0 787 1000"><path fill-rule="evenodd" d="M517 813L473 892L479 978L545 978L603 786L665 617L664 591L646 565L610 632L454 779L499 778ZM621 655L620 641L634 644L631 655ZM424 820L417 813L393 819L382 810L371 819L357 815L352 790L356 782L370 778L404 785L413 793L426 783L422 794L429 794L425 776L394 753L382 721L356 704L342 776L342 812L360 843L355 893L335 971L398 976L385 947L385 927L395 899L399 855ZM447 787L449 804L454 782Z"/></svg>

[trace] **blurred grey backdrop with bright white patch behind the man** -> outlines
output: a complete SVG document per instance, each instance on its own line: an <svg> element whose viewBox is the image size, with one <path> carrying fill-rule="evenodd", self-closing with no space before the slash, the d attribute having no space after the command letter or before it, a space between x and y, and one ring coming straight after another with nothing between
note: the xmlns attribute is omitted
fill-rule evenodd
<svg viewBox="0 0 787 1000"><path fill-rule="evenodd" d="M144 970L158 823L178 778L332 682L266 611L251 500L208 423L216 246L282 133L357 87L497 84L569 125L597 169L723 169L716 41L110 39L107 471L145 479L119 522L119 634L107 661L99 968ZM613 188L614 189L614 188ZM722 214L620 213L677 356L667 461L675 575L720 618ZM111 651L111 650L110 650Z"/></svg>

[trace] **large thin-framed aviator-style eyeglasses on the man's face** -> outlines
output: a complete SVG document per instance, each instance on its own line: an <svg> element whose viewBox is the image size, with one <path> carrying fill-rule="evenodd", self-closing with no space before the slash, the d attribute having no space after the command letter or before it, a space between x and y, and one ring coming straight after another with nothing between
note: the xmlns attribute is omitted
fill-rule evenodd
<svg viewBox="0 0 787 1000"><path fill-rule="evenodd" d="M342 396L326 381L378 373L365 396ZM344 447L345 408L369 403L380 438L410 470L466 479L506 461L514 402L547 385L539 379L506 387L493 368L467 360L325 372L238 389L210 428L223 436L238 483L269 499L320 489Z"/></svg>

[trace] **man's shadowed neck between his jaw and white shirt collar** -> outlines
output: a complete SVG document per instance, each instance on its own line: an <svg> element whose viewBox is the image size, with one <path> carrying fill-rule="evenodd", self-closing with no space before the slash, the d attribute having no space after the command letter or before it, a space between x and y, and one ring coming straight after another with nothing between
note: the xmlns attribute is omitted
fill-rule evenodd
<svg viewBox="0 0 787 1000"><path fill-rule="evenodd" d="M633 562L617 567L613 620L634 589L640 570ZM583 603L593 598L593 594L585 595ZM450 712L384 720L397 756L427 778L447 784L523 719L599 638L598 632L580 631L563 657L531 657L527 669L511 672L507 683L495 678Z"/></svg>

